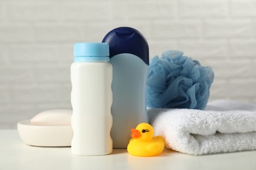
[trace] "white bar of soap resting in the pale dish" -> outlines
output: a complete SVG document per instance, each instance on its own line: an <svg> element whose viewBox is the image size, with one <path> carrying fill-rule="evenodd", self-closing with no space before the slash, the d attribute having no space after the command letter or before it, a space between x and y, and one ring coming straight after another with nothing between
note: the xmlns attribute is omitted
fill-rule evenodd
<svg viewBox="0 0 256 170"><path fill-rule="evenodd" d="M47 110L35 115L31 124L35 126L70 126L72 110Z"/></svg>

